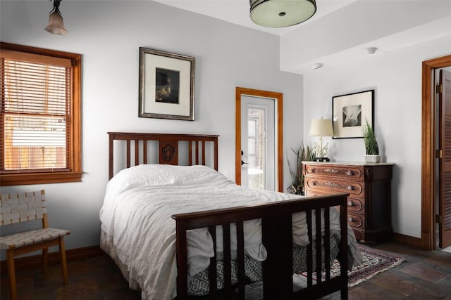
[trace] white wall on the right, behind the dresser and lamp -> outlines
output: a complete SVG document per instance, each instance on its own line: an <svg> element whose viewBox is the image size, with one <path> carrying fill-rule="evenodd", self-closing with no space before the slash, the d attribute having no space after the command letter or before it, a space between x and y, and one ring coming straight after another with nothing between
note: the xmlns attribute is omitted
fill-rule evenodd
<svg viewBox="0 0 451 300"><path fill-rule="evenodd" d="M392 221L395 233L421 237L421 62L451 53L451 35L324 65L304 74L304 137L311 119L332 117L332 97L375 89L375 133L384 162L393 162ZM329 157L363 161L362 138L333 139Z"/></svg>

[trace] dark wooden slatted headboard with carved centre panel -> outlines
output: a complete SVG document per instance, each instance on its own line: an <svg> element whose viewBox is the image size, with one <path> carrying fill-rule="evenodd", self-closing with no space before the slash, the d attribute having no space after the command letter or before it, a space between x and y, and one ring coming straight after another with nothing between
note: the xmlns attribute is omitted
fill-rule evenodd
<svg viewBox="0 0 451 300"><path fill-rule="evenodd" d="M125 144L125 167L130 168L138 164L157 163L178 165L179 157L183 156L189 166L193 164L206 165L206 145L212 143L209 153L212 155L213 166L218 171L218 135L205 134L178 134L178 133L133 133L133 132L109 132L109 179L114 176L114 141ZM123 141L123 142L121 142ZM186 143L187 153L180 152L180 142ZM149 143L156 143L158 160L152 162L149 159ZM134 151L132 152L132 150ZM209 148L210 149L210 148ZM134 154L133 154L134 153ZM135 157L132 164L132 156Z"/></svg>

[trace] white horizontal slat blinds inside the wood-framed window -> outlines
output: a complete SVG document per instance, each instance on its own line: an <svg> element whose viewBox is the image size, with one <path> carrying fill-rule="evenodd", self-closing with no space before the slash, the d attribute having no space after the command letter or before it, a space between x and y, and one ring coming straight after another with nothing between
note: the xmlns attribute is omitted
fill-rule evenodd
<svg viewBox="0 0 451 300"><path fill-rule="evenodd" d="M1 52L1 172L70 171L70 60Z"/></svg>

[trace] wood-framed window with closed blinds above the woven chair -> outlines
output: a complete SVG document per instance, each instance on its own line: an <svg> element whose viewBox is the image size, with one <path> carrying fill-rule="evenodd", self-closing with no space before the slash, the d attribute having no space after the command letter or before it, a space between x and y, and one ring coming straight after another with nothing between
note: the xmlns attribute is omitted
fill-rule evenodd
<svg viewBox="0 0 451 300"><path fill-rule="evenodd" d="M81 181L80 54L0 50L0 185Z"/></svg>

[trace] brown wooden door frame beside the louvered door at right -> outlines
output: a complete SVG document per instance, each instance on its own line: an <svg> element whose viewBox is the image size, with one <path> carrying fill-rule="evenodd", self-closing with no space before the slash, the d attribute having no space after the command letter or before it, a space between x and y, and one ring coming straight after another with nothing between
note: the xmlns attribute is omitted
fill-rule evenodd
<svg viewBox="0 0 451 300"><path fill-rule="evenodd" d="M451 55L425 60L421 91L421 249L435 249L435 105L433 73L451 66Z"/></svg>

